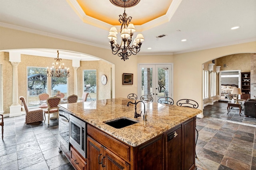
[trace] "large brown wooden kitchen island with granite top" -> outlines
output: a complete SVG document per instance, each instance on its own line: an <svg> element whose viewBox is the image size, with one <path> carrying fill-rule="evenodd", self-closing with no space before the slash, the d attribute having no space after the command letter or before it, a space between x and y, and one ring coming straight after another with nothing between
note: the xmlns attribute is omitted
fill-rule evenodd
<svg viewBox="0 0 256 170"><path fill-rule="evenodd" d="M147 103L147 121L143 121L143 116L134 118L134 105L127 106L129 101L134 102L114 98L59 105L62 110L87 123L87 154L81 160L84 166L78 169L196 169L196 115L202 111ZM137 112L140 111L143 115L142 103L137 104ZM106 124L121 118L136 123L120 129ZM75 151L71 146L70 162ZM75 154L79 156L79 153ZM77 163L77 160L72 162L75 166L79 165Z"/></svg>

